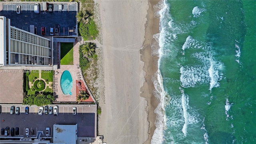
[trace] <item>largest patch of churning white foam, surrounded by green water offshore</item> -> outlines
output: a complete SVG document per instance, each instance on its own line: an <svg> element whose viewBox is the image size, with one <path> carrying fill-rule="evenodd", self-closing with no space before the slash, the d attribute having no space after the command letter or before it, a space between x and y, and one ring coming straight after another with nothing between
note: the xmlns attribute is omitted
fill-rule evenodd
<svg viewBox="0 0 256 144"><path fill-rule="evenodd" d="M195 87L197 84L210 83L209 90L218 87L219 80L222 79L223 64L214 59L214 52L212 51L212 44L199 42L188 36L182 46L184 51L189 48L201 49L201 52L191 54L194 58L197 58L202 62L202 65L196 66L182 66L180 68L180 80L183 87Z"/></svg>

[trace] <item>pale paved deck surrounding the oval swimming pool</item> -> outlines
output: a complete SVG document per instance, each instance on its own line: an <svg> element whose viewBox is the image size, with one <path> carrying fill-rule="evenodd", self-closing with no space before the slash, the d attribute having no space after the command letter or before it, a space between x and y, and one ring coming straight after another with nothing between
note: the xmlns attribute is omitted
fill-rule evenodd
<svg viewBox="0 0 256 144"><path fill-rule="evenodd" d="M58 44L59 52L60 52L60 44ZM54 102L76 102L76 96L77 96L77 85L76 82L77 80L82 80L85 84L86 89L88 90L88 86L86 85L84 78L82 76L82 72L79 68L79 42L76 40L74 42L74 47L73 47L73 58L74 58L74 63L73 65L60 65L60 68L58 70L55 70L54 72L54 96L56 97L56 100ZM62 75L62 72L64 70L69 70L72 80L73 80L73 86L72 86L72 95L64 95L62 93L62 90L60 88L60 77ZM96 103L96 100L92 96L92 93L90 90L88 90L90 96L92 97L93 102Z"/></svg>

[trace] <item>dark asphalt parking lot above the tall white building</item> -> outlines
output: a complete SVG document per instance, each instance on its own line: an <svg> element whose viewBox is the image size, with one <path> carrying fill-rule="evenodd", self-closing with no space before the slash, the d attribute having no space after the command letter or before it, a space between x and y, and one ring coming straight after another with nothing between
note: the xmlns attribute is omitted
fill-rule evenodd
<svg viewBox="0 0 256 144"><path fill-rule="evenodd" d="M42 3L40 4L40 13L34 13L34 5L36 2L23 3L0 3L3 4L0 16L10 18L11 26L30 32L30 25L36 28L36 34L41 35L41 28L46 28L46 36L50 36L50 28L54 28L55 24L60 25L60 36L73 35L76 28L76 11L77 3L75 2L51 2L54 4L53 12L45 12ZM21 13L17 14L17 6L21 6ZM59 10L62 5L62 10ZM73 32L72 32L73 31Z"/></svg>

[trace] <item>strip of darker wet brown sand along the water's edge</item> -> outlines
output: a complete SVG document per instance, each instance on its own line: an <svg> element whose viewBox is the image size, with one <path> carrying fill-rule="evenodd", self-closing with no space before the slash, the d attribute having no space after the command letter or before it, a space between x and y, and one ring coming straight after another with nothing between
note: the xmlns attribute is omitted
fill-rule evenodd
<svg viewBox="0 0 256 144"><path fill-rule="evenodd" d="M152 82L152 77L158 70L158 66L155 64L158 63L158 57L152 57L151 55L151 41L154 34L159 33L159 18L154 18L154 5L157 4L159 0L148 0L149 9L147 11L147 22L145 28L145 41L143 43L143 48L140 50L141 60L144 62L143 70L145 72L145 82L141 87L141 96L146 98L147 107L146 111L148 113L147 120L149 122L148 125L148 139L144 142L144 144L150 144L152 140L152 136L156 129L156 114L154 110L158 106L159 102L157 98L153 94L154 84Z"/></svg>

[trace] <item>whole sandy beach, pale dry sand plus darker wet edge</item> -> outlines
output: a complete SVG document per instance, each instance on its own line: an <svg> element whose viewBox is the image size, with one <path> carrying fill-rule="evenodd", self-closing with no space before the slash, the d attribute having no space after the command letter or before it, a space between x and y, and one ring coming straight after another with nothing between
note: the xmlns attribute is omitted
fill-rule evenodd
<svg viewBox="0 0 256 144"><path fill-rule="evenodd" d="M150 143L157 106L151 81L157 58L151 56L150 42L159 21L153 22L152 4L145 0L95 2L102 24L105 90L98 134L108 144Z"/></svg>

